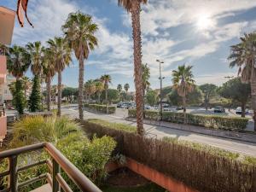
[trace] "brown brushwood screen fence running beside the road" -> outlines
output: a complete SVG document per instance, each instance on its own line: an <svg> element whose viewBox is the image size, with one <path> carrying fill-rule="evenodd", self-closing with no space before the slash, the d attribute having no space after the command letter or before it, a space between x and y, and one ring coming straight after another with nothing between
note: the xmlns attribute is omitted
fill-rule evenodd
<svg viewBox="0 0 256 192"><path fill-rule="evenodd" d="M212 153L172 141L141 137L111 125L82 122L90 135L108 135L118 143L116 153L124 154L146 166L173 177L203 192L255 192L256 166L242 162L235 155Z"/></svg>

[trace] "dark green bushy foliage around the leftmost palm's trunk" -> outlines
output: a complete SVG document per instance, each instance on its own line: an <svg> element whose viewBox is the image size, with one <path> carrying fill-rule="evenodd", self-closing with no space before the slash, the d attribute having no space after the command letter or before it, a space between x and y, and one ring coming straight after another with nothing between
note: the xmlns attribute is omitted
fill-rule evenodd
<svg viewBox="0 0 256 192"><path fill-rule="evenodd" d="M22 90L21 80L16 81L13 96L14 96L13 104L15 106L15 109L18 111L19 114L23 114L23 111L26 105L26 99Z"/></svg>

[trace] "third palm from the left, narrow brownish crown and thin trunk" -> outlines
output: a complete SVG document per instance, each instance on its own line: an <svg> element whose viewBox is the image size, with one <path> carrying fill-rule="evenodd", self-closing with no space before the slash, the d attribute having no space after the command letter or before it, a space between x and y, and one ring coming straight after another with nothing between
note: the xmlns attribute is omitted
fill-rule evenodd
<svg viewBox="0 0 256 192"><path fill-rule="evenodd" d="M51 80L55 76L55 56L51 49L44 49L44 65L43 65L44 79L46 83L46 103L47 110L50 111L51 102Z"/></svg>

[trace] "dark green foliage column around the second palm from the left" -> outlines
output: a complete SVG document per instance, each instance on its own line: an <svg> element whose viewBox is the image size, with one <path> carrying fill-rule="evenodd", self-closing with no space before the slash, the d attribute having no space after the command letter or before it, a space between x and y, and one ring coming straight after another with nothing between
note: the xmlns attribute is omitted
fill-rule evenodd
<svg viewBox="0 0 256 192"><path fill-rule="evenodd" d="M41 109L41 90L38 75L35 75L33 79L32 93L29 97L28 107L31 112L37 112Z"/></svg>

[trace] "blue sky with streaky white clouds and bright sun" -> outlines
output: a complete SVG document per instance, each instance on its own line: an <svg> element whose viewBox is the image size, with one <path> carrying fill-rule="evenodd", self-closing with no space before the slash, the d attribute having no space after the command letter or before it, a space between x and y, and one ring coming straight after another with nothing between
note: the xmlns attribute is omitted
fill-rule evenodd
<svg viewBox="0 0 256 192"><path fill-rule="evenodd" d="M0 6L16 9L15 0L1 0ZM131 15L117 0L31 0L28 16L35 26L21 28L15 21L12 44L26 45L61 36L67 15L81 11L92 15L99 26L99 46L84 61L84 79L112 76L110 87L128 83L134 90ZM159 64L164 61L163 85L172 85L172 70L192 65L196 84L218 84L224 77L236 77L237 68L227 60L230 45L239 43L245 32L256 30L256 0L149 0L141 12L143 63L148 63L153 89L160 86ZM1 26L0 26L1 27ZM32 77L30 72L26 75ZM79 66L73 56L63 71L62 84L78 87ZM53 80L56 84L56 77Z"/></svg>

